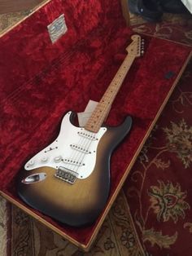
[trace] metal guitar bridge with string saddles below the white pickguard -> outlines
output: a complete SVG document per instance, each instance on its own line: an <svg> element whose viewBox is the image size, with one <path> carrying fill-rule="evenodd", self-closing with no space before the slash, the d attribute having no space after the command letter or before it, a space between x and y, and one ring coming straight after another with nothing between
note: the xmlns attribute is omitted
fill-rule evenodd
<svg viewBox="0 0 192 256"><path fill-rule="evenodd" d="M55 173L55 177L62 179L63 181L66 181L70 184L73 184L75 183L78 174L73 170L69 170L63 166L59 166L58 170Z"/></svg>

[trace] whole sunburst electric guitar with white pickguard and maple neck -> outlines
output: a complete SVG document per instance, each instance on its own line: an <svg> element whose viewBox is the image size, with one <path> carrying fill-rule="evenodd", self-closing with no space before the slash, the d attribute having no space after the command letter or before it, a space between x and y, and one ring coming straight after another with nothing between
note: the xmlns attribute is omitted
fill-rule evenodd
<svg viewBox="0 0 192 256"><path fill-rule="evenodd" d="M28 205L73 227L93 223L101 214L110 191L111 153L129 133L132 118L117 127L103 126L103 121L133 61L142 54L142 43L139 35L132 36L128 55L85 127L74 126L75 113L66 113L57 139L20 171L17 190Z"/></svg>

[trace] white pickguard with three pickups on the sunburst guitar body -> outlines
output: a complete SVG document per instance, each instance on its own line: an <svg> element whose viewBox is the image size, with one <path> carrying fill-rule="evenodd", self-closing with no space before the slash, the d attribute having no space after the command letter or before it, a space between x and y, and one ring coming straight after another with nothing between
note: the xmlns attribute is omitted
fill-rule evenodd
<svg viewBox="0 0 192 256"><path fill-rule="evenodd" d="M93 172L98 142L107 131L100 128L93 133L81 127L73 126L68 112L61 124L59 136L53 143L38 152L24 166L25 170L33 170L43 166L67 168L76 172L78 179L85 179Z"/></svg>

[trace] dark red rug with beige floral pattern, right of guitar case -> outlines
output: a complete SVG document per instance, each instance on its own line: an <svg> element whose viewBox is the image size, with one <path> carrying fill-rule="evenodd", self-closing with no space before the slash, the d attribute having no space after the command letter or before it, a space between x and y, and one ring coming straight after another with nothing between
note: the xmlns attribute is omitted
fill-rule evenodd
<svg viewBox="0 0 192 256"><path fill-rule="evenodd" d="M124 184L146 255L190 256L192 252L191 70L192 62ZM124 239L130 243L130 237L128 230Z"/></svg>

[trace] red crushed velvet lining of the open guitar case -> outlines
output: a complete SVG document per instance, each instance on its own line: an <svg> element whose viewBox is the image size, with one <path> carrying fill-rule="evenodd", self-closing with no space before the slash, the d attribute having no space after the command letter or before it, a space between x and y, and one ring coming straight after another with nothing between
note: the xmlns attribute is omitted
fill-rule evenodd
<svg viewBox="0 0 192 256"><path fill-rule="evenodd" d="M62 13L68 32L52 45L46 26ZM18 170L58 135L66 111L82 112L89 99L101 98L130 34L117 0L53 0L0 38L2 192L24 205L15 190ZM144 38L145 55L133 64L107 118L116 126L133 117L130 135L111 157L110 196L190 53L188 46ZM97 227L66 227L33 211L83 245Z"/></svg>

